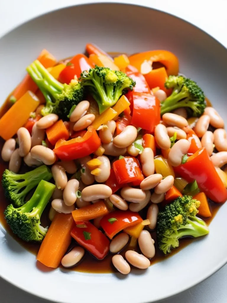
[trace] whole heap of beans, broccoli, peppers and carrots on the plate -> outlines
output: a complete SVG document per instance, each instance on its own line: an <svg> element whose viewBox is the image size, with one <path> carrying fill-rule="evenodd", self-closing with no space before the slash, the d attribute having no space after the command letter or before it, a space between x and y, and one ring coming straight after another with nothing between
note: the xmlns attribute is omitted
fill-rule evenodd
<svg viewBox="0 0 227 303"><path fill-rule="evenodd" d="M227 199L226 132L173 53L86 54L43 50L2 108L5 220L41 243L45 266L112 254L129 274L209 233L210 204Z"/></svg>

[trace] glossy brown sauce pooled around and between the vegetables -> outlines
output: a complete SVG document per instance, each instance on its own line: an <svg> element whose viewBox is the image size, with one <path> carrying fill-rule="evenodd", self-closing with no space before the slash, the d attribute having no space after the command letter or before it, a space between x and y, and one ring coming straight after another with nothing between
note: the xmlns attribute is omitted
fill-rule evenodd
<svg viewBox="0 0 227 303"><path fill-rule="evenodd" d="M110 53L110 55L112 55L112 56L117 56L119 54L120 53L117 53L117 52ZM70 60L71 58L72 57L65 58L61 62L66 62L66 61ZM160 66L157 65L156 68L158 68L158 67L160 67ZM2 115L5 114L5 112L9 108L9 104L8 104L7 99L6 99L5 103L2 105L2 107L0 108L0 118L2 117ZM206 102L207 102L207 106L212 106L211 102L207 98L206 98ZM2 150L3 144L4 144L4 140L2 138L0 138L0 151ZM2 158L0 158L0 176L2 176L2 173L6 168L8 168L8 163L4 162L2 160ZM23 166L21 168L21 171L25 171L25 166ZM20 173L21 173L21 171L20 171ZM1 177L1 179L2 179L2 177ZM1 197L1 201L0 201L0 223L6 229L8 234L10 234L16 241L18 241L18 243L20 243L21 246L23 246L26 250L30 251L31 253L37 255L40 244L27 243L25 241L22 241L20 238L18 238L16 235L13 234L13 232L11 231L11 229L9 228L9 226L7 225L7 223L5 221L4 210L7 207L7 205L9 204L9 202L5 198L4 190L2 188L2 182L0 184L0 197ZM49 207L47 207L45 209L44 213L42 214L42 220L41 221L43 223L43 226L50 225L50 223L51 223L48 219L49 208L50 208L50 203L49 203ZM215 214L218 211L218 208L219 208L219 206L217 204L214 204L214 203L210 202L210 209L211 209L212 217L208 218L208 219L202 218L204 221L206 221L206 223L208 225L210 224L212 219L215 217ZM146 211L147 211L147 208L145 208L144 210L142 210L140 212L140 215L143 217L143 219L146 219ZM155 240L155 245L156 245L156 232L152 231L151 235L152 235L152 238ZM175 255L179 250L183 249L184 247L186 247L187 245L192 243L192 241L196 241L196 239L192 239L192 238L183 238L183 239L181 239L179 248L173 249L171 254L169 254L169 255L164 255L157 248L157 245L156 245L156 254L155 254L155 257L151 260L151 265ZM72 246L74 245L74 243L75 242L73 241ZM124 256L125 252L127 251L127 246L123 249L123 251L120 252L121 255ZM137 250L138 252L140 251L138 245L137 245L137 248L135 250ZM114 272L115 269L113 268L113 265L112 265L112 262L111 262L112 256L113 255L109 253L107 255L107 257L104 258L104 260L100 261L100 260L97 260L96 258L94 258L92 255L90 255L87 252L80 264L78 264L77 266L75 266L73 268L69 268L67 270L88 272L88 273L110 273L110 272Z"/></svg>

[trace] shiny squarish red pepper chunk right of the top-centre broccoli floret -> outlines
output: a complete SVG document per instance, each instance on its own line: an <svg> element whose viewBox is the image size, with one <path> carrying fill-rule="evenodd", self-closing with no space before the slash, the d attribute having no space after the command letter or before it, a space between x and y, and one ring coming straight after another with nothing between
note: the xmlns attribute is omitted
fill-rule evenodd
<svg viewBox="0 0 227 303"><path fill-rule="evenodd" d="M148 93L133 93L132 125L154 132L160 119L158 98Z"/></svg>

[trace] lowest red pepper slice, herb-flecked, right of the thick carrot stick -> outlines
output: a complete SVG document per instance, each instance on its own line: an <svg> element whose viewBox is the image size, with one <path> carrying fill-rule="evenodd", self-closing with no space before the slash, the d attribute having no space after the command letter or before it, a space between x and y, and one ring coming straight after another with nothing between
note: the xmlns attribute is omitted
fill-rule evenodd
<svg viewBox="0 0 227 303"><path fill-rule="evenodd" d="M74 227L71 236L97 259L102 260L109 252L109 239L89 221L84 221L86 227Z"/></svg>

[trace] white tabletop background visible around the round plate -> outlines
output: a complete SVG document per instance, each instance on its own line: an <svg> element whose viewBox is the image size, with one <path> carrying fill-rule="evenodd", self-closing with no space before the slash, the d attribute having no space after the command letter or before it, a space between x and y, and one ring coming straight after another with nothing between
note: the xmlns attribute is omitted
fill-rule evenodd
<svg viewBox="0 0 227 303"><path fill-rule="evenodd" d="M81 1L80 1L81 2ZM102 2L85 0L84 2ZM104 1L103 1L104 2ZM121 2L107 1L107 2ZM181 17L208 32L227 47L227 0L125 0L139 3L169 12ZM77 0L0 0L0 36L10 29L42 13L70 6ZM210 4L209 4L210 3ZM170 32L171 35L171 32ZM180 43L180 42L179 42ZM1 55L1 54L0 54ZM227 58L226 58L227 59ZM215 243L214 243L215 245ZM1 258L1 253L0 253ZM193 258L189 260L193 269ZM186 275L183 272L182 275ZM29 279L29 277L28 277ZM44 284L48 281L43 281ZM227 265L212 277L183 293L164 300L165 303L226 303L227 302ZM39 285L37 287L42 287ZM41 303L43 300L33 297L0 279L1 303Z"/></svg>

